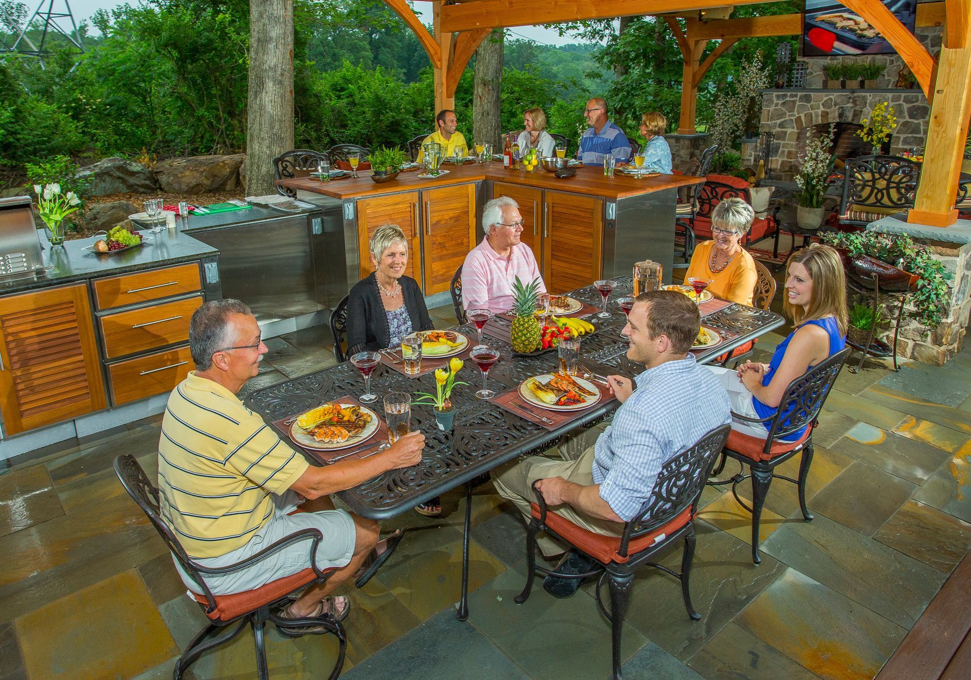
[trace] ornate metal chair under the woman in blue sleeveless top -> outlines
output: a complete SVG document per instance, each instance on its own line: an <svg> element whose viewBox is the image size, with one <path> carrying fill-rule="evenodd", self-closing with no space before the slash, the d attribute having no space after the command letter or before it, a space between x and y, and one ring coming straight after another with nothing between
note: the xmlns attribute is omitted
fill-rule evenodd
<svg viewBox="0 0 971 680"><path fill-rule="evenodd" d="M813 463L813 428L816 427L822 405L825 404L850 352L849 348L842 349L790 382L774 415L756 419L732 413L732 417L739 421L769 424L768 437L765 439L732 430L724 450L721 451L719 465L713 472L715 475L720 474L725 460L734 458L742 469L749 466L749 474L742 474L743 470L739 470L738 474L728 479L708 482L712 486L731 484L731 493L735 500L752 513L752 561L756 565L762 562L758 555L758 523L773 476L792 482L799 488L802 516L807 522L813 519L813 515L806 509L806 478ZM782 417L784 413L787 414L785 419ZM795 441L783 440L803 427L806 427L806 432L802 437ZM777 466L800 452L802 462L799 465L798 479L774 474L773 470ZM739 498L736 488L739 482L748 477L752 477L752 507Z"/></svg>

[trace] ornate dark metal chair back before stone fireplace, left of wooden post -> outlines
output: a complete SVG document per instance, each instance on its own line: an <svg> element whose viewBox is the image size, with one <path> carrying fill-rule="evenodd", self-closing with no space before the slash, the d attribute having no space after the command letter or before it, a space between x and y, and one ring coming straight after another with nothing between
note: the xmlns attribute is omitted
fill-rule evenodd
<svg viewBox="0 0 971 680"><path fill-rule="evenodd" d="M858 156L847 161L837 215L843 226L865 227L914 207L921 164L901 156Z"/></svg>

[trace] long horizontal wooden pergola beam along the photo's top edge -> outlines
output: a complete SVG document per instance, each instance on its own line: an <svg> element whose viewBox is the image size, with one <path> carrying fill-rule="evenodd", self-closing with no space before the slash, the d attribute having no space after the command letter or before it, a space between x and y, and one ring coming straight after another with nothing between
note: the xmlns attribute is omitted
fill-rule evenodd
<svg viewBox="0 0 971 680"><path fill-rule="evenodd" d="M778 2L779 0L768 0ZM437 3L436 3L437 4ZM476 0L442 8L445 31L531 26L613 16L663 15L726 5L764 5L766 0Z"/></svg>

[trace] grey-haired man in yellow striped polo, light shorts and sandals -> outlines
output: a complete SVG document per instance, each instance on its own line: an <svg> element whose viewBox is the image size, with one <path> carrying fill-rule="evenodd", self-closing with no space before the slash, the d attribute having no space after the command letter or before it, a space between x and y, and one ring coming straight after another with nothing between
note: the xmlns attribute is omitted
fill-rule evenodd
<svg viewBox="0 0 971 680"><path fill-rule="evenodd" d="M329 594L358 569L363 585L400 534L379 543L376 522L334 509L327 495L419 463L424 437L413 433L368 458L311 467L236 397L268 351L250 308L237 300L198 308L189 348L196 370L170 395L158 443L166 524L189 559L204 567L232 565L301 529L320 530L318 567L340 568L326 583L307 588L281 616L343 618L350 602ZM305 512L290 515L301 503ZM206 584L216 595L258 588L310 567L308 545L298 541L251 567L209 576ZM176 567L185 585L201 593L178 562Z"/></svg>

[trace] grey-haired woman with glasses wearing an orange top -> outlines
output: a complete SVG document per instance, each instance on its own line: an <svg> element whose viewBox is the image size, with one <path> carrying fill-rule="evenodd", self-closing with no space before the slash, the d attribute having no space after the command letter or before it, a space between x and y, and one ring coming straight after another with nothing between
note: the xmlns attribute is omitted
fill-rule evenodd
<svg viewBox="0 0 971 680"><path fill-rule="evenodd" d="M692 276L710 278L708 290L721 300L752 305L755 290L755 261L739 243L749 229L755 212L740 198L721 201L712 210L713 241L699 244L691 255L685 280Z"/></svg>

